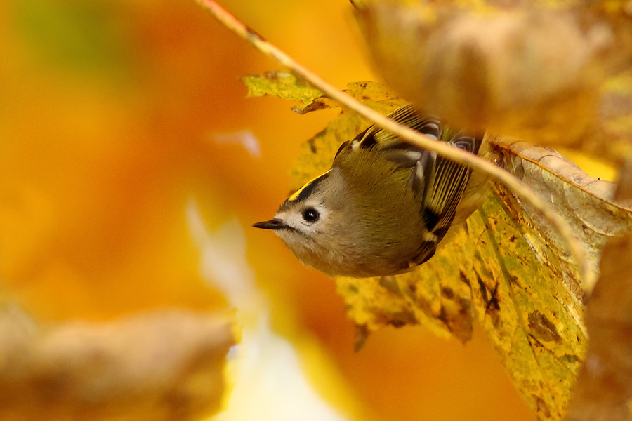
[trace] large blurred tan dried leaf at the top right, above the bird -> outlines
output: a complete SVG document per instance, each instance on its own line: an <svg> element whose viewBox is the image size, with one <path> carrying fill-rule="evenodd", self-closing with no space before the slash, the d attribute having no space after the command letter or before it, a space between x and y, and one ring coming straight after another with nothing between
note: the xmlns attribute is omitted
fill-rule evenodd
<svg viewBox="0 0 632 421"><path fill-rule="evenodd" d="M581 4L497 3L375 2L357 16L386 81L419 107L456 126L576 143L600 86L632 55L621 48L630 25Z"/></svg>

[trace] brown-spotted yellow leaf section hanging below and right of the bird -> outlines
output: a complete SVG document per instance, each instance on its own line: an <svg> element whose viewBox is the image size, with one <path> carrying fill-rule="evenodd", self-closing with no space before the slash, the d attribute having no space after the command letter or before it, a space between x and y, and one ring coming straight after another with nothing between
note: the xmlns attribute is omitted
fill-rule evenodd
<svg viewBox="0 0 632 421"><path fill-rule="evenodd" d="M336 286L364 332L419 323L468 340L478 316L534 411L560 419L586 344L576 268L543 265L534 248L546 240L514 219L503 196L511 194L496 186L467 230L413 272Z"/></svg>

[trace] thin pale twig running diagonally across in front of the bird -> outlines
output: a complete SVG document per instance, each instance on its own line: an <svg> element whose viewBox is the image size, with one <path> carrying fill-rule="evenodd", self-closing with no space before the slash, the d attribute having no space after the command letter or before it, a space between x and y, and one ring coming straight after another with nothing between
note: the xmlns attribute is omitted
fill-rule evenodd
<svg viewBox="0 0 632 421"><path fill-rule="evenodd" d="M588 259L586 259L584 248L582 248L581 244L574 236L571 227L548 203L541 199L540 196L537 196L534 192L532 192L525 183L503 170L503 168L495 166L492 162L481 159L479 156L470 154L470 152L466 152L463 149L449 145L447 142L438 142L437 140L430 139L427 136L414 131L412 128L402 126L401 124L388 119L386 116L383 116L379 112L367 107L350 95L342 91L338 91L338 89L334 86L331 86L329 83L321 79L320 76L317 76L316 74L310 72L310 70L298 64L298 62L294 61L294 59L289 57L289 55L279 50L279 48L270 44L268 41L265 41L263 36L257 34L253 29L247 27L242 22L239 22L235 16L228 13L228 11L225 11L225 9L219 6L216 1L197 0L197 2L202 7L206 8L206 10L211 12L211 14L225 27L248 41L255 48L261 51L261 53L272 58L272 60L276 60L281 65L288 67L295 74L305 79L305 81L311 83L312 86L315 86L320 89L320 91L324 92L329 98L340 102L342 105L345 105L345 107L353 109L353 111L357 112L357 114L360 114L364 118L375 123L376 126L381 127L404 140L407 140L407 142L410 142L413 145L435 151L441 156L445 156L448 159L452 159L452 161L462 163L470 166L471 168L485 171L485 173L492 175L492 177L496 178L496 180L502 182L521 199L527 201L536 209L539 209L544 217L551 222L551 225L553 225L553 227L555 227L560 235L567 241L572 254L577 260L579 265L579 275L582 279L584 279L584 286L592 286L594 284L596 274L590 267Z"/></svg>

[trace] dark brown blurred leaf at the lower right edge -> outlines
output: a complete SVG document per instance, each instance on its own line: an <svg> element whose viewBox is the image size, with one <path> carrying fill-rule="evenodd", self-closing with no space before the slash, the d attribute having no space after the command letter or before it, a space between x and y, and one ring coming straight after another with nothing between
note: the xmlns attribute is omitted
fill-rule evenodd
<svg viewBox="0 0 632 421"><path fill-rule="evenodd" d="M632 199L626 171L618 199ZM621 189L621 187L625 187ZM606 244L601 276L586 308L591 335L569 408L570 421L630 420L632 398L632 235Z"/></svg>

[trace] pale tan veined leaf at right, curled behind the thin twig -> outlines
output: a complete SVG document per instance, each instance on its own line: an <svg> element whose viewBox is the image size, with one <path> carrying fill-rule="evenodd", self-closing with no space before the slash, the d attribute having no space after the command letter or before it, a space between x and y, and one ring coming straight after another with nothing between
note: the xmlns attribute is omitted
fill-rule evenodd
<svg viewBox="0 0 632 421"><path fill-rule="evenodd" d="M505 140L496 143L498 163L532 187L536 194L551 201L555 210L574 229L586 248L591 266L598 268L605 243L632 228L629 202L615 203L614 183L592 178L572 161L553 149L525 142ZM525 227L538 232L546 254L560 269L569 288L575 283L574 264L565 240L527 203L506 195L508 208ZM591 289L592 286L586 286Z"/></svg>

